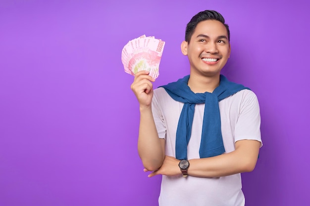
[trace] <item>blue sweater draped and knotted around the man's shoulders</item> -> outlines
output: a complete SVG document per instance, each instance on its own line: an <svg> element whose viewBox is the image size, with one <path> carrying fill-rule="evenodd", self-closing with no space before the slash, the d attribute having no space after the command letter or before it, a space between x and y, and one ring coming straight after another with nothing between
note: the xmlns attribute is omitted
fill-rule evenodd
<svg viewBox="0 0 310 206"><path fill-rule="evenodd" d="M171 82L161 86L172 99L184 103L176 131L176 159L187 160L187 145L191 138L196 104L205 104L202 137L199 149L200 158L221 155L225 152L225 148L221 132L218 102L240 90L250 88L242 84L230 82L226 77L220 75L219 86L216 87L212 93L194 93L187 85L189 78L190 76L188 75L179 79L177 82Z"/></svg>

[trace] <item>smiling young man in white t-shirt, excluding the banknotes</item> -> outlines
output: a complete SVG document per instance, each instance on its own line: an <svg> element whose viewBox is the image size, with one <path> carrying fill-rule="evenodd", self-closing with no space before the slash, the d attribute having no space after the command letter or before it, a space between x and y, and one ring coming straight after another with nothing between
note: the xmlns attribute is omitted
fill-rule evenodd
<svg viewBox="0 0 310 206"><path fill-rule="evenodd" d="M190 75L153 90L148 72L131 85L140 103L138 151L149 177L162 174L160 206L244 206L241 172L255 168L256 95L220 75L230 34L216 11L196 14L181 50Z"/></svg>

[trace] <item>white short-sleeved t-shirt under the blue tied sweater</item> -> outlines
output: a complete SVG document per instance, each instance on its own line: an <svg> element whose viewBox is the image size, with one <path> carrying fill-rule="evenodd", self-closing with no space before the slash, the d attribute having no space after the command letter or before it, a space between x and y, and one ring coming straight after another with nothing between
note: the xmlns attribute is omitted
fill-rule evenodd
<svg viewBox="0 0 310 206"><path fill-rule="evenodd" d="M165 139L165 154L175 157L175 138L183 103L173 100L164 88L154 90L153 116L159 138ZM205 104L195 106L188 159L198 159ZM226 153L235 150L235 142L260 138L258 99L244 89L219 102L221 130ZM218 178L162 175L159 206L244 206L241 175Z"/></svg>

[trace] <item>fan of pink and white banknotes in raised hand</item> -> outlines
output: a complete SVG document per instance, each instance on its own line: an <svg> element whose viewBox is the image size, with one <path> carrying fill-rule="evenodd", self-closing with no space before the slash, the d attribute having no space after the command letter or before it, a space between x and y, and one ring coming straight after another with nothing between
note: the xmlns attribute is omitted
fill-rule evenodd
<svg viewBox="0 0 310 206"><path fill-rule="evenodd" d="M122 50L125 72L135 76L137 72L147 70L156 79L164 45L164 41L145 35L129 41Z"/></svg>

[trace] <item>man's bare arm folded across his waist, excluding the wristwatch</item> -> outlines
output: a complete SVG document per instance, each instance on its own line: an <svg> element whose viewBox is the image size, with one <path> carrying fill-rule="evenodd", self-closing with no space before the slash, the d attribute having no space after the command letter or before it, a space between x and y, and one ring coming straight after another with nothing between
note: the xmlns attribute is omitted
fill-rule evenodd
<svg viewBox="0 0 310 206"><path fill-rule="evenodd" d="M261 142L257 140L239 140L235 143L235 150L211 158L189 160L188 174L196 177L221 177L232 174L251 172L258 160L258 152ZM149 174L149 177L157 174L168 176L181 175L178 166L180 160L166 156L162 166ZM147 171L145 169L145 171Z"/></svg>

